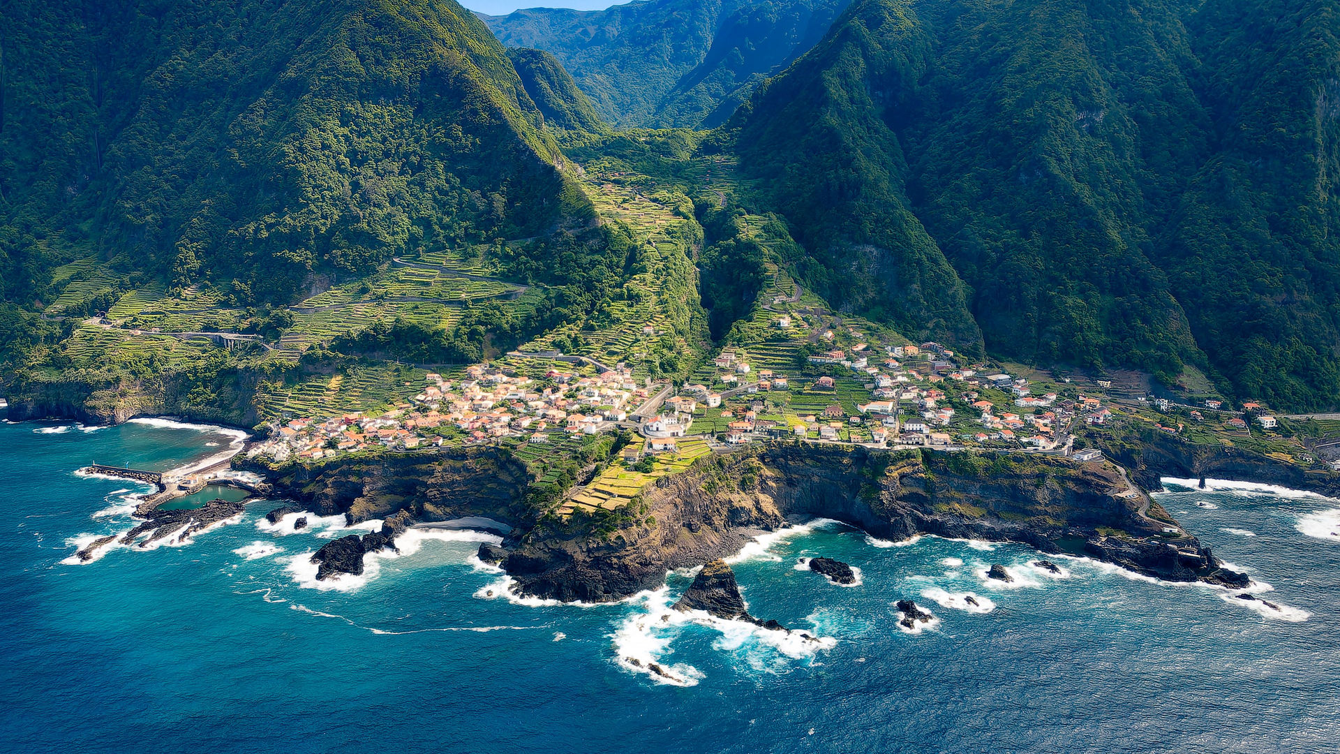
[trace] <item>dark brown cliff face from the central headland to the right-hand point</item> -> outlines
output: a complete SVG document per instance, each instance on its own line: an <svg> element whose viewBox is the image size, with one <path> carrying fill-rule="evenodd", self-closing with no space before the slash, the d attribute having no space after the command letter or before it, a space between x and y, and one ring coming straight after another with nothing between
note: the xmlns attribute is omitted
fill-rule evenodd
<svg viewBox="0 0 1340 754"><path fill-rule="evenodd" d="M1167 523L1146 517L1148 496L1110 464L773 447L708 459L643 499L650 515L604 539L536 529L504 568L529 594L610 601L658 586L669 569L738 550L744 534L734 527L775 529L788 515L813 515L882 538L1017 541L1160 578L1246 585L1193 537L1140 539Z"/></svg>

